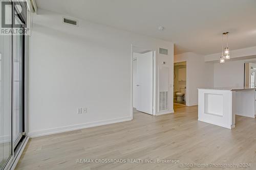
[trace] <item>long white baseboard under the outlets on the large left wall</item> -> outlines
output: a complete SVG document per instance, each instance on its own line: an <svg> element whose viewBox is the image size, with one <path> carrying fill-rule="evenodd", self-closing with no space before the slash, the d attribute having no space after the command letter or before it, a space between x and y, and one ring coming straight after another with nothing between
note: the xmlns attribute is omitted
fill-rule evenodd
<svg viewBox="0 0 256 170"><path fill-rule="evenodd" d="M52 134L61 133L61 132L68 132L68 131L79 130L79 129L84 129L84 128L91 128L91 127L96 127L96 126L126 122L126 121L130 121L130 120L132 120L131 116L120 117L120 118L114 118L114 119L108 119L108 120L101 120L98 122L71 125L71 126L52 128L52 129L46 129L46 130L40 130L40 131L33 131L33 132L29 132L28 136L30 136L31 138L34 138L34 137L52 135Z"/></svg>

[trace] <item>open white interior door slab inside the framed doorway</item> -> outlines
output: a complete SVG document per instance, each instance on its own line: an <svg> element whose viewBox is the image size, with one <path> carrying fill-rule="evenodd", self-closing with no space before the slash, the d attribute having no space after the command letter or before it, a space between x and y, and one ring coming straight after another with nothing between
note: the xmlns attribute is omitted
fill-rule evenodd
<svg viewBox="0 0 256 170"><path fill-rule="evenodd" d="M137 56L137 102L138 111L153 114L153 52Z"/></svg>

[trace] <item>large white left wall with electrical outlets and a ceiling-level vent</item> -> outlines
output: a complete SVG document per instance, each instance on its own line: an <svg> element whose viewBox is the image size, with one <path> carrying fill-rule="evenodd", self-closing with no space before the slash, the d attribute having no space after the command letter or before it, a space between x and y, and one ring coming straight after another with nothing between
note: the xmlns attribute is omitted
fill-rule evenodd
<svg viewBox="0 0 256 170"><path fill-rule="evenodd" d="M30 136L130 120L131 44L157 52L167 48L169 55L157 54L157 63L168 63L173 80L172 42L80 19L78 23L65 25L62 15L41 9L34 17L29 39ZM78 107L87 107L88 113L77 114Z"/></svg>

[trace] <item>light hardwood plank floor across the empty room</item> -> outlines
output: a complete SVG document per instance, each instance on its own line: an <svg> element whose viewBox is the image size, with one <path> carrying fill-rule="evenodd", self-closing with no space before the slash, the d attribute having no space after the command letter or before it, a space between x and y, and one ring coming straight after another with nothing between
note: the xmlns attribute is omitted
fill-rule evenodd
<svg viewBox="0 0 256 170"><path fill-rule="evenodd" d="M236 169L256 169L256 119L236 118L229 130L198 122L197 106L175 105L175 114L161 116L136 112L130 122L33 138L16 169L190 169L185 163L251 163ZM183 167L77 159L178 159Z"/></svg>

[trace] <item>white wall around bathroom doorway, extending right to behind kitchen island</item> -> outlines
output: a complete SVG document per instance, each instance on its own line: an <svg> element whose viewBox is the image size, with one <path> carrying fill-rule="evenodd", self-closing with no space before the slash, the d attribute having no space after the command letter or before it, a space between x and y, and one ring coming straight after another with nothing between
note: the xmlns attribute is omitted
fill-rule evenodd
<svg viewBox="0 0 256 170"><path fill-rule="evenodd" d="M175 63L182 61L187 64L186 105L197 105L197 88L214 86L214 64L205 62L204 56L191 52L174 56Z"/></svg>

